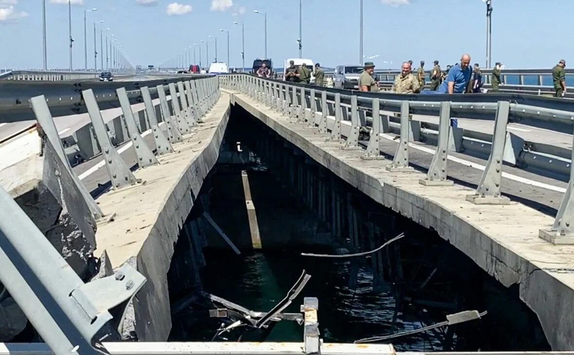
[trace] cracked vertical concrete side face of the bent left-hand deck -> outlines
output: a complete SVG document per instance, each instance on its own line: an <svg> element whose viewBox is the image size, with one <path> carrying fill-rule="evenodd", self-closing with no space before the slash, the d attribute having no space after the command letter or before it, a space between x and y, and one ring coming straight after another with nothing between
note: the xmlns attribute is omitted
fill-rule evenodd
<svg viewBox="0 0 574 355"><path fill-rule="evenodd" d="M181 227L187 219L205 177L219 157L219 147L230 116L230 101L222 95L211 115L219 124L210 142L180 175L165 197L157 219L137 255L137 270L147 281L134 298L135 333L139 341L166 341L172 327L167 273ZM206 120L211 124L212 120Z"/></svg>

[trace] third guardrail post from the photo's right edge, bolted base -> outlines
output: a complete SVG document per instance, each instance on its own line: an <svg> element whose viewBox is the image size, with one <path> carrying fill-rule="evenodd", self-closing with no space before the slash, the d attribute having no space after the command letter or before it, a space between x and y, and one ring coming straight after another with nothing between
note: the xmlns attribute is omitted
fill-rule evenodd
<svg viewBox="0 0 574 355"><path fill-rule="evenodd" d="M435 156L430 163L425 179L418 182L425 186L449 186L454 184L447 180L448 161L448 134L451 121L451 103L440 103L439 142L437 142Z"/></svg>

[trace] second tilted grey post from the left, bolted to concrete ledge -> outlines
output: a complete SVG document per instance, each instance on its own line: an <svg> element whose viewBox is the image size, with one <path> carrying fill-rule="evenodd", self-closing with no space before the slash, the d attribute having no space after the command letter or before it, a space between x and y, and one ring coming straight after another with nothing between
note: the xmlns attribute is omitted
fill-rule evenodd
<svg viewBox="0 0 574 355"><path fill-rule="evenodd" d="M92 91L92 89L84 90L82 91L82 96L84 97L88 114L90 114L96 139L98 139L98 143L100 147L102 147L102 154L104 155L104 161L106 162L112 187L119 189L134 185L137 182L134 175L110 142L110 136L107 134L106 124L104 124L102 114L100 114L94 91Z"/></svg>

